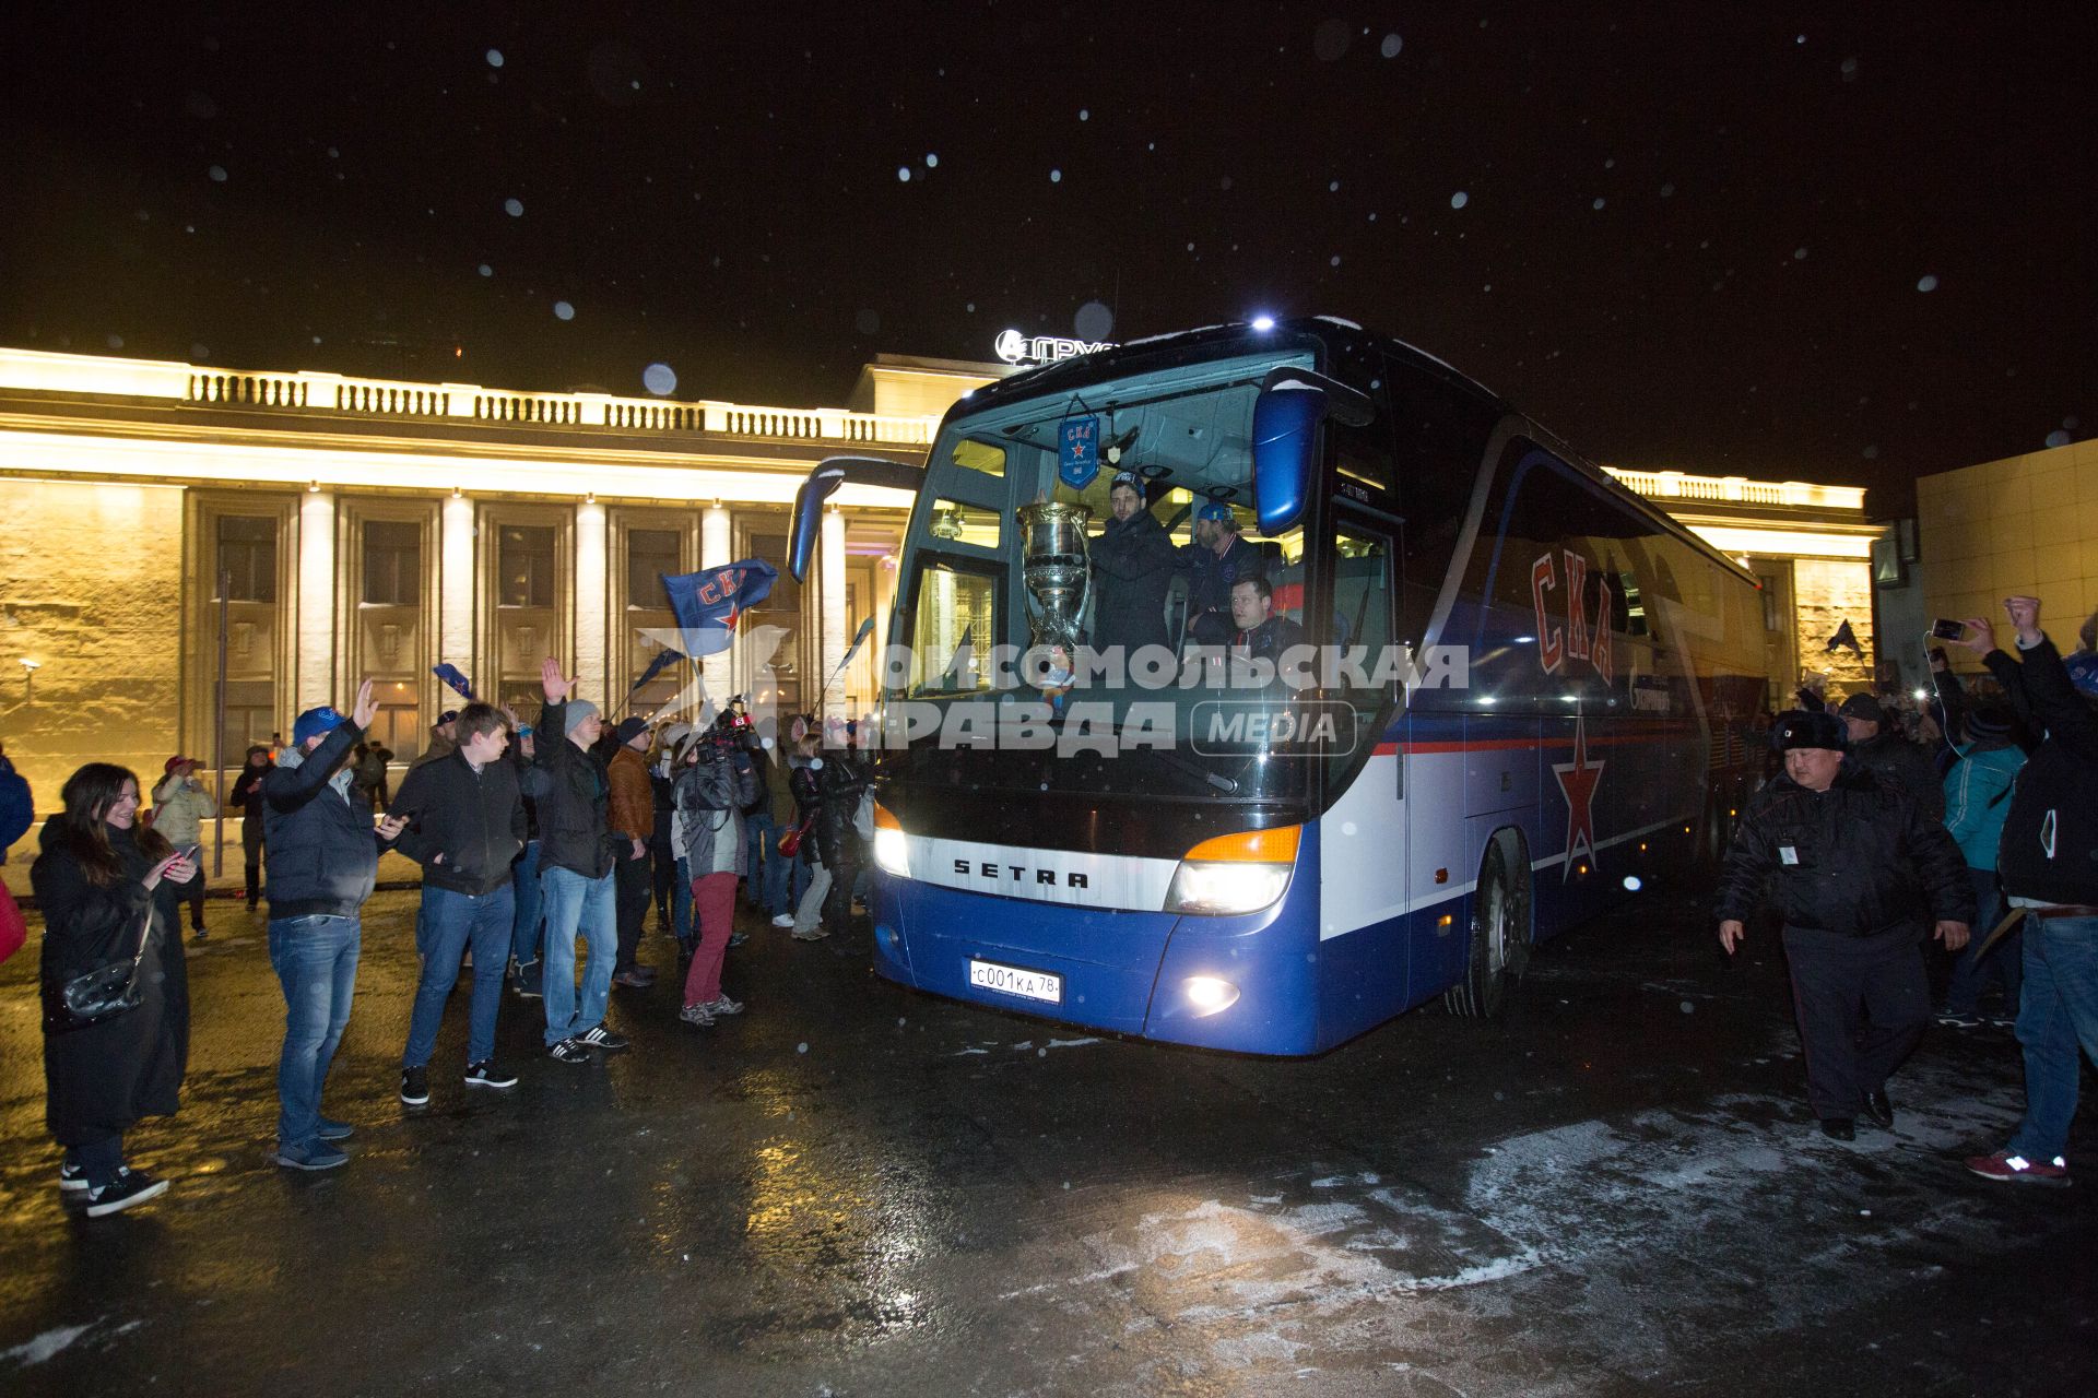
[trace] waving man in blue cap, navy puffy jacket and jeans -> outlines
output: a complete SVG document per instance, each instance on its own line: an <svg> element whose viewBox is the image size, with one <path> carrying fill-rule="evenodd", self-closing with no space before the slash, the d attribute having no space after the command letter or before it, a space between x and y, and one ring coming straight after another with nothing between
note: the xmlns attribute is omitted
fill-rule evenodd
<svg viewBox="0 0 2098 1398"><path fill-rule="evenodd" d="M350 1023L380 849L405 824L388 815L373 834L371 807L350 790L350 748L378 711L369 679L357 687L348 719L325 704L308 708L262 778L269 962L285 1004L275 1159L292 1170L334 1170L350 1159L334 1144L350 1126L321 1115L321 1086Z"/></svg>

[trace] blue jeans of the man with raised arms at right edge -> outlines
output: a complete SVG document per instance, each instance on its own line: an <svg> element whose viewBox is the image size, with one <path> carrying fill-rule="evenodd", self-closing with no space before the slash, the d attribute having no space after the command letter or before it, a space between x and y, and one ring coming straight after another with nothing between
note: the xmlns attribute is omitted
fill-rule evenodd
<svg viewBox="0 0 2098 1398"><path fill-rule="evenodd" d="M2025 920L2025 1121L2012 1155L2050 1161L2069 1149L2077 1115L2077 1046L2098 1061L2098 918Z"/></svg>

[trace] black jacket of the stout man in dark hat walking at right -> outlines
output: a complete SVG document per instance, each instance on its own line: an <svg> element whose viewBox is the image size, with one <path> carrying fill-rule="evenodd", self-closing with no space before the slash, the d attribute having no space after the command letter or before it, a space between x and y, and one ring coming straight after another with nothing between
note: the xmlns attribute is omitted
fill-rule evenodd
<svg viewBox="0 0 2098 1398"><path fill-rule="evenodd" d="M1785 926L1869 937L1974 920L1974 884L1953 836L1905 790L1850 761L1825 792L1787 776L1756 792L1727 849L1720 922L1748 920L1773 876Z"/></svg>

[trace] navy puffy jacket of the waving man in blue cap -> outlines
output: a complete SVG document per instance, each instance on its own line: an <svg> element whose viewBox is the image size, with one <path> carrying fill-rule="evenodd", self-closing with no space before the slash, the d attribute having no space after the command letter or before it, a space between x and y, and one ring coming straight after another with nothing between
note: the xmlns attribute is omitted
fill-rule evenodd
<svg viewBox="0 0 2098 1398"><path fill-rule="evenodd" d="M350 792L350 748L363 736L336 725L311 755L285 748L262 778L262 843L269 859L269 916L355 918L371 897L380 836L371 805Z"/></svg>

